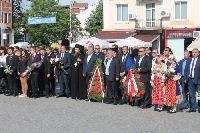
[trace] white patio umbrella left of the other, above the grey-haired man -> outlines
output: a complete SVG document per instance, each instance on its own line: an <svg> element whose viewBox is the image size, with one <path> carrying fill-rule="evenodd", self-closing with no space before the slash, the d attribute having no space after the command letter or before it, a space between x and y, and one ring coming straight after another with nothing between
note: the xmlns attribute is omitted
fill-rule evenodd
<svg viewBox="0 0 200 133"><path fill-rule="evenodd" d="M110 44L109 42L106 42L106 41L101 40L99 38L91 37L91 38L88 38L88 39L83 39L83 40L76 42L76 43L72 43L72 44L70 44L70 46L74 47L76 44L80 44L82 46L87 47L90 43L92 43L94 46L99 45L101 48L109 48L109 44Z"/></svg>

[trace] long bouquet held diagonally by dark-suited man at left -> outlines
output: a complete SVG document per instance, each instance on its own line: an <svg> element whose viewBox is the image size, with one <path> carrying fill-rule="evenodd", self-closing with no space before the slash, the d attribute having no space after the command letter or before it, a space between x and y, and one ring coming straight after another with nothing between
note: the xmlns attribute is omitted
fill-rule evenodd
<svg viewBox="0 0 200 133"><path fill-rule="evenodd" d="M26 70L20 75L20 77L23 78L25 76L29 76L33 69L40 68L41 66L42 66L42 61L31 64L31 66L27 67Z"/></svg>

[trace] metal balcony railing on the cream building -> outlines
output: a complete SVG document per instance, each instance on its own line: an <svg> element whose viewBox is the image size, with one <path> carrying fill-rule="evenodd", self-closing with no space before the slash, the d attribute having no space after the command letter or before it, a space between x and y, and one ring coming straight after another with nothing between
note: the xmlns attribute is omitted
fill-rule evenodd
<svg viewBox="0 0 200 133"><path fill-rule="evenodd" d="M162 19L136 19L135 29L162 29Z"/></svg>

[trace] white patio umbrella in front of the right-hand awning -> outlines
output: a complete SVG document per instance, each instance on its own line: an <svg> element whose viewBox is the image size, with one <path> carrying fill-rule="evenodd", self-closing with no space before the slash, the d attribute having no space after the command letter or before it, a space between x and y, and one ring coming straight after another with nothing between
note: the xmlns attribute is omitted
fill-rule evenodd
<svg viewBox="0 0 200 133"><path fill-rule="evenodd" d="M143 42L139 39L136 39L134 37L128 37L122 40L119 40L115 42L115 44L118 45L118 47L128 46L128 47L149 47L149 44L147 42ZM148 46L147 46L148 45Z"/></svg>

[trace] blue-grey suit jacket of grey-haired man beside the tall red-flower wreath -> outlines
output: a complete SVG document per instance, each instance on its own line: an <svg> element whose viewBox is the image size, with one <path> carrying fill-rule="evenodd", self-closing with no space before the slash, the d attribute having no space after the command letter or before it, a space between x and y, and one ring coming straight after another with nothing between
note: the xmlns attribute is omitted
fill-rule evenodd
<svg viewBox="0 0 200 133"><path fill-rule="evenodd" d="M96 54L92 54L92 57L90 58L89 62L87 63L88 54L85 55L84 58L84 64L83 64L83 74L87 74L88 76L91 76L91 72L94 68L94 64L98 58Z"/></svg>

